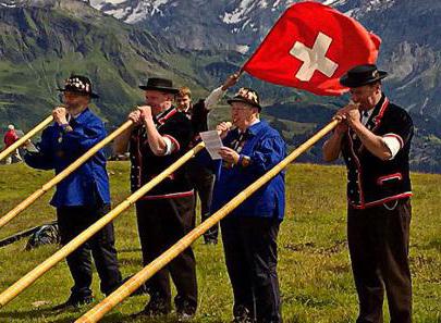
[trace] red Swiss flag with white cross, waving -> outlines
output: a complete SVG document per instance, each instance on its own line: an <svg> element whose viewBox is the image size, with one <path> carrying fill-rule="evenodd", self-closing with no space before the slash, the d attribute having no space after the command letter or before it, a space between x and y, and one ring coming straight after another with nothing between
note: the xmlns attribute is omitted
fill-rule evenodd
<svg viewBox="0 0 441 323"><path fill-rule="evenodd" d="M242 70L264 80L320 96L347 90L339 78L376 63L381 39L356 20L318 3L291 5Z"/></svg>

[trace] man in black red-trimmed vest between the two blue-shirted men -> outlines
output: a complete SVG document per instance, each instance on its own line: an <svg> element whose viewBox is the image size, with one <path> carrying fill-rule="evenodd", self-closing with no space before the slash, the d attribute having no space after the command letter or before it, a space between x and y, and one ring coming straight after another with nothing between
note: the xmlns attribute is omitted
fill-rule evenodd
<svg viewBox="0 0 441 323"><path fill-rule="evenodd" d="M132 191L181 158L193 138L192 124L173 105L177 89L164 78L149 78L139 86L146 103L128 119L134 126L115 140L115 152L127 148L132 161ZM136 202L136 216L144 265L163 253L195 224L194 191L184 167L162 181ZM156 316L171 312L169 273L177 289L174 298L180 320L191 319L197 307L196 261L187 248L147 283L150 301L142 314Z"/></svg>

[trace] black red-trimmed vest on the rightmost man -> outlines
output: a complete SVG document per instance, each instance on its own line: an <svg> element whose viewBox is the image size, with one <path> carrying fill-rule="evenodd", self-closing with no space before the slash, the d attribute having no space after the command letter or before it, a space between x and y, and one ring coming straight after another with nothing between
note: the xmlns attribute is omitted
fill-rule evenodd
<svg viewBox="0 0 441 323"><path fill-rule="evenodd" d="M353 129L342 146L347 166L347 199L352 207L365 209L412 196L408 156L414 125L408 113L382 96L366 127L378 136L399 139L395 158L382 161L370 153Z"/></svg>

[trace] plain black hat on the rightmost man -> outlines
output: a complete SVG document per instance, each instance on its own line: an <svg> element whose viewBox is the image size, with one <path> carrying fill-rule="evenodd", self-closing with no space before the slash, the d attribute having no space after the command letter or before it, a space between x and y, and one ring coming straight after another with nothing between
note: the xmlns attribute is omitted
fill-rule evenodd
<svg viewBox="0 0 441 323"><path fill-rule="evenodd" d="M383 79L388 76L384 71L378 71L373 64L358 65L340 78L340 84L346 87L360 87Z"/></svg>

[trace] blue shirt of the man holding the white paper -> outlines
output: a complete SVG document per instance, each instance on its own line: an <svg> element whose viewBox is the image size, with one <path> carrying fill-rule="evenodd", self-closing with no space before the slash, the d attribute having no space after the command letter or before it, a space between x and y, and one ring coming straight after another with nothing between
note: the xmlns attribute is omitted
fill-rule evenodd
<svg viewBox="0 0 441 323"><path fill-rule="evenodd" d="M234 147L240 137L238 129L230 132L223 145ZM211 211L215 213L242 190L260 178L286 156L286 144L280 134L261 121L248 127L246 140L241 150L242 158L249 157L247 166L236 164L228 167L217 163L217 181L213 190ZM229 216L259 216L283 219L285 209L284 172L279 173L269 183L248 197Z"/></svg>

